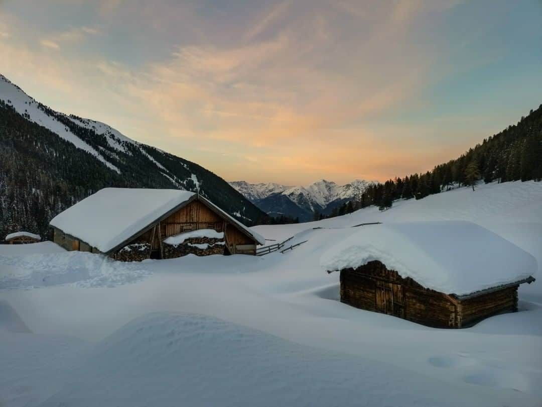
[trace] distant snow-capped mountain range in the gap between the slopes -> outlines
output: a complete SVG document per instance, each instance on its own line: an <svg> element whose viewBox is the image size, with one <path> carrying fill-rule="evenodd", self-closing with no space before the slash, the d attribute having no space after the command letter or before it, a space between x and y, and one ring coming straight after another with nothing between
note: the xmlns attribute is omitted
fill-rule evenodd
<svg viewBox="0 0 542 407"><path fill-rule="evenodd" d="M230 185L268 215L285 215L312 220L314 212L330 214L333 208L351 200L359 200L371 181L354 180L345 185L320 180L308 186L288 186L277 183L251 184L233 181Z"/></svg>

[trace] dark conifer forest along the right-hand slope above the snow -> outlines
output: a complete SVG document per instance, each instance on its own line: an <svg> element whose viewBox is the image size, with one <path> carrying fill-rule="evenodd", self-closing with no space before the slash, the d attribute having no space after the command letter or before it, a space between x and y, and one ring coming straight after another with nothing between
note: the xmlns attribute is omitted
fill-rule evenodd
<svg viewBox="0 0 542 407"><path fill-rule="evenodd" d="M459 186L477 182L540 181L542 179L542 105L521 117L515 125L484 139L455 160L422 174L396 177L367 187L362 198L346 202L330 217L376 205L390 208L397 199L422 199ZM325 218L315 214L315 218Z"/></svg>

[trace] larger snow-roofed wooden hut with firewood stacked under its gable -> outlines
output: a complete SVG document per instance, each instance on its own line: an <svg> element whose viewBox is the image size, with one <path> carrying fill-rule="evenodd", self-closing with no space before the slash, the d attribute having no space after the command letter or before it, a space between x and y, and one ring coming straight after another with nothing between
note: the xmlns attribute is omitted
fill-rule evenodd
<svg viewBox="0 0 542 407"><path fill-rule="evenodd" d="M121 260L195 253L255 255L265 240L193 192L104 188L51 220L54 241L67 250Z"/></svg>

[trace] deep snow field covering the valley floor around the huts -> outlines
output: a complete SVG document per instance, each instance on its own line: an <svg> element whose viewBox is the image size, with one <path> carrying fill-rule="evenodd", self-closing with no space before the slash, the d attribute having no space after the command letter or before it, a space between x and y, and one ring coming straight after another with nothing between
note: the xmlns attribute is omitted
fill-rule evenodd
<svg viewBox="0 0 542 407"><path fill-rule="evenodd" d="M448 330L337 301L330 246L363 222L420 220L472 221L531 253L520 311ZM0 245L0 406L542 405L542 182L254 230L308 241L141 263Z"/></svg>

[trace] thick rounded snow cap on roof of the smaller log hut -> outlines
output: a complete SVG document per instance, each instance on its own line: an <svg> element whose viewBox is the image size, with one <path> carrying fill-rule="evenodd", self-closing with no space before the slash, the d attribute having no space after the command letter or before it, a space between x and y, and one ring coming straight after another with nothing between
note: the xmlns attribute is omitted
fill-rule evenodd
<svg viewBox="0 0 542 407"><path fill-rule="evenodd" d="M364 226L324 252L320 264L331 271L372 260L425 288L458 296L519 282L538 268L529 253L467 221Z"/></svg>

